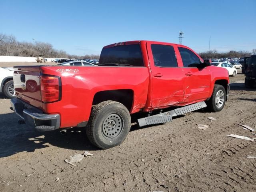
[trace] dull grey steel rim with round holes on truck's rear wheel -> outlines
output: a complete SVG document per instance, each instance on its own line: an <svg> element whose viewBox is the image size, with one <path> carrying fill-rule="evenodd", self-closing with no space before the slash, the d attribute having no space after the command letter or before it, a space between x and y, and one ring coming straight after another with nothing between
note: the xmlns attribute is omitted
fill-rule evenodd
<svg viewBox="0 0 256 192"><path fill-rule="evenodd" d="M121 134L124 128L124 119L120 114L108 115L102 123L102 134L106 139L113 139Z"/></svg>

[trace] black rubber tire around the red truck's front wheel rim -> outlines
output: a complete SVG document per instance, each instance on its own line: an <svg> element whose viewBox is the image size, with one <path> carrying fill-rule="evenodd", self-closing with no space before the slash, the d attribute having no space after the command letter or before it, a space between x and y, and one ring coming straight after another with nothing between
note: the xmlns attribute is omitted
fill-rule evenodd
<svg viewBox="0 0 256 192"><path fill-rule="evenodd" d="M224 94L223 104L220 107L218 107L217 104L216 104L216 94L219 91L222 91L223 94ZM210 100L208 100L206 102L208 109L211 112L219 112L224 108L225 102L226 102L226 90L225 90L225 88L222 85L214 85L212 96L211 96Z"/></svg>

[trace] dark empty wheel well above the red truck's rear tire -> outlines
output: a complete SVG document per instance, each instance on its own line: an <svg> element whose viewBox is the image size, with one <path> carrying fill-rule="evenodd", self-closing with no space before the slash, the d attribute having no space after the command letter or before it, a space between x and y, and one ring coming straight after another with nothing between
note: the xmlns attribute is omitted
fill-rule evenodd
<svg viewBox="0 0 256 192"><path fill-rule="evenodd" d="M103 101L116 101L122 103L130 111L132 109L134 92L130 89L100 91L94 95L92 105Z"/></svg>

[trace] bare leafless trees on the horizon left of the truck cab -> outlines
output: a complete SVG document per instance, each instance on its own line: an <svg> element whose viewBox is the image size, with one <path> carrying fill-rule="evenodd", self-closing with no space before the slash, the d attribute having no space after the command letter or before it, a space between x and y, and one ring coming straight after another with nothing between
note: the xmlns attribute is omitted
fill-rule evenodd
<svg viewBox="0 0 256 192"><path fill-rule="evenodd" d="M13 35L0 33L0 55L1 56L23 56L23 57L38 57L43 55L45 58L86 58L99 59L99 55L84 56L70 55L64 50L56 50L52 44L44 42L20 42Z"/></svg>

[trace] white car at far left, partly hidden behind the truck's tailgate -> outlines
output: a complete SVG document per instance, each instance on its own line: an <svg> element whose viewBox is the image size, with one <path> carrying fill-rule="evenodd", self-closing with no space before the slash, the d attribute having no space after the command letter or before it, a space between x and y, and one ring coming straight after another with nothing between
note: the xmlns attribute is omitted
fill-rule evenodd
<svg viewBox="0 0 256 192"><path fill-rule="evenodd" d="M13 85L13 68L0 67L0 92L3 92L8 98L15 98Z"/></svg>

